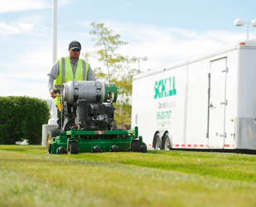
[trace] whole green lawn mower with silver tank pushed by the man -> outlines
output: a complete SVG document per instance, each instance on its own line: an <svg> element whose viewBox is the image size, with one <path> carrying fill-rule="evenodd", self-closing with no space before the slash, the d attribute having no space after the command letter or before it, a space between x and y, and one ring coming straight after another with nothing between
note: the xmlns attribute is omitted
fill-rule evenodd
<svg viewBox="0 0 256 207"><path fill-rule="evenodd" d="M61 94L62 126L48 134L49 153L147 152L137 127L114 130L116 84L69 81L57 91Z"/></svg>

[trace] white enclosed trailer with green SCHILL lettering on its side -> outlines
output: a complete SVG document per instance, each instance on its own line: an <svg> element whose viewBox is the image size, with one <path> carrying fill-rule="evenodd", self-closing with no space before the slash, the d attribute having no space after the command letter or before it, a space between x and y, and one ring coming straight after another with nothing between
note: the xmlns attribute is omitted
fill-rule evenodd
<svg viewBox="0 0 256 207"><path fill-rule="evenodd" d="M132 128L155 149L256 149L256 41L133 78Z"/></svg>

